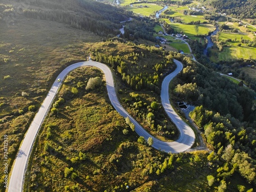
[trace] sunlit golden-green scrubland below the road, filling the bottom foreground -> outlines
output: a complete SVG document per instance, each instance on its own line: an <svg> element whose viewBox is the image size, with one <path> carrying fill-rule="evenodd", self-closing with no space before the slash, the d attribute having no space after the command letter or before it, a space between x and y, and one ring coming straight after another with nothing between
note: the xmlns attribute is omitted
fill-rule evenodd
<svg viewBox="0 0 256 192"><path fill-rule="evenodd" d="M64 102L58 105L57 115L49 115L40 133L25 191L252 188L243 180L245 177L253 182L253 174L243 172L246 167L253 173L251 158L235 154L229 145L218 154L203 151L168 155L151 148L109 104L104 84L86 91L89 79L95 77L102 78L101 72L89 67L67 77L56 101ZM70 94L80 83L78 95ZM156 108L157 103L151 107ZM239 166L232 167L223 159ZM243 165L244 160L247 164Z"/></svg>

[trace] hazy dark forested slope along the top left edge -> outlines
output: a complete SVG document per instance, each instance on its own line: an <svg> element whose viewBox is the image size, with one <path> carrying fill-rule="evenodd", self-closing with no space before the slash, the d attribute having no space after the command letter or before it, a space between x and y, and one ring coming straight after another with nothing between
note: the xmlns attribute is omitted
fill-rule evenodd
<svg viewBox="0 0 256 192"><path fill-rule="evenodd" d="M26 3L28 6L22 11L27 17L53 20L76 29L92 31L101 36L118 34L120 22L129 18L120 8L90 0L28 1Z"/></svg>

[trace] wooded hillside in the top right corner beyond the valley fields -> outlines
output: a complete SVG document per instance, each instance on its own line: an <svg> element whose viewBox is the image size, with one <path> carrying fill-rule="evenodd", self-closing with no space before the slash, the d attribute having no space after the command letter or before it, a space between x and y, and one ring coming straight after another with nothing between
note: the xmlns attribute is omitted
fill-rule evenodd
<svg viewBox="0 0 256 192"><path fill-rule="evenodd" d="M217 11L227 13L238 18L256 18L256 2L254 0L198 0L201 3L208 4Z"/></svg>

